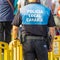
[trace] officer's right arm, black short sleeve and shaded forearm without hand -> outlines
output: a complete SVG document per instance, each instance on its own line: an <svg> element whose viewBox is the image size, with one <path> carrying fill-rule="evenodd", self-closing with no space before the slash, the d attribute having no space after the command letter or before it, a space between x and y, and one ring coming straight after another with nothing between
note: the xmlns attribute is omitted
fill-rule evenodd
<svg viewBox="0 0 60 60"><path fill-rule="evenodd" d="M48 22L48 26L49 26L49 34L52 37L52 40L54 39L54 35L55 35L55 22L54 22L54 17L52 15L52 13L50 13L50 17L49 17L49 22Z"/></svg>

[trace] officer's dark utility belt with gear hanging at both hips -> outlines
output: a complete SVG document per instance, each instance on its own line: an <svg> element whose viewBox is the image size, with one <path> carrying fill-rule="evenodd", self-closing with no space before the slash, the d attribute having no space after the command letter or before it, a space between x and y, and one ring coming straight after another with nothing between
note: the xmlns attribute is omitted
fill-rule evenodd
<svg viewBox="0 0 60 60"><path fill-rule="evenodd" d="M44 36L36 36L36 35L33 36L33 35L26 35L26 34L22 34L22 35L21 35L21 42L22 42L22 44L23 44L26 40L29 40L29 39L45 41L46 44L47 44L47 48L49 49L50 42L51 42L51 37L50 37L50 36L44 37Z"/></svg>

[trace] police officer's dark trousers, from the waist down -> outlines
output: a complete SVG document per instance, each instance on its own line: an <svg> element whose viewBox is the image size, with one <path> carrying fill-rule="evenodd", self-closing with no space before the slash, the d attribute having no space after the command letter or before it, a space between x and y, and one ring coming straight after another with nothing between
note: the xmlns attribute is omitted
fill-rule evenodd
<svg viewBox="0 0 60 60"><path fill-rule="evenodd" d="M26 36L24 40L24 60L35 60L35 58L48 60L48 49L44 37Z"/></svg>

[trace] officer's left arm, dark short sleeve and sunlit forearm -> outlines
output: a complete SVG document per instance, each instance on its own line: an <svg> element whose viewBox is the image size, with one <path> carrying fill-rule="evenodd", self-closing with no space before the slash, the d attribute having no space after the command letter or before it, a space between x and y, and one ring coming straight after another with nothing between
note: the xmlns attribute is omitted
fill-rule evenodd
<svg viewBox="0 0 60 60"><path fill-rule="evenodd" d="M17 15L15 15L12 21L12 39L13 40L18 37L18 30L21 22L22 21L21 21L20 11L18 11Z"/></svg>

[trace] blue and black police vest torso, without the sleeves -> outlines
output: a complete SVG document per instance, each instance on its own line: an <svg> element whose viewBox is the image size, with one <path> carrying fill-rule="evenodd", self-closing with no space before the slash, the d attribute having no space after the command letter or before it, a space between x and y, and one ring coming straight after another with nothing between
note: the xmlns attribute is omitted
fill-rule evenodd
<svg viewBox="0 0 60 60"><path fill-rule="evenodd" d="M23 30L28 34L47 36L50 9L40 4L28 4L20 9Z"/></svg>

